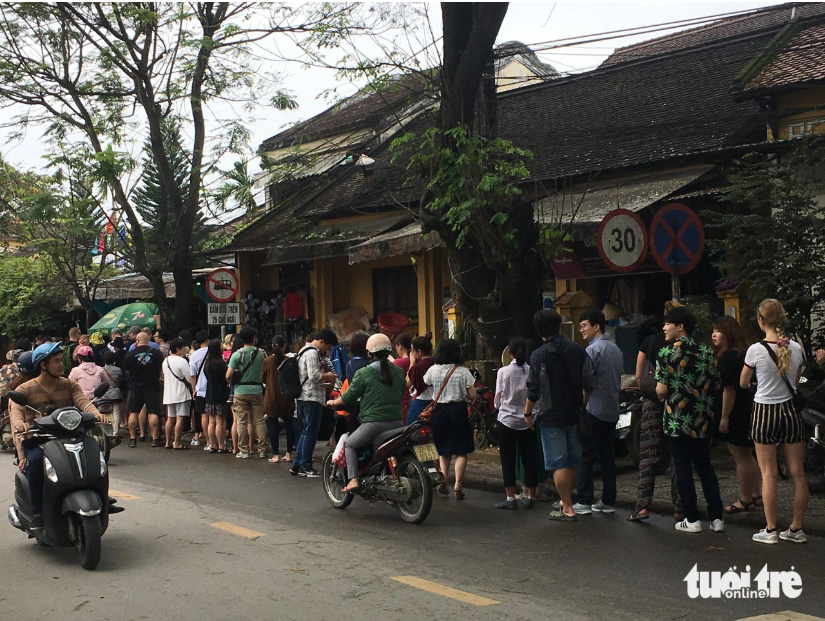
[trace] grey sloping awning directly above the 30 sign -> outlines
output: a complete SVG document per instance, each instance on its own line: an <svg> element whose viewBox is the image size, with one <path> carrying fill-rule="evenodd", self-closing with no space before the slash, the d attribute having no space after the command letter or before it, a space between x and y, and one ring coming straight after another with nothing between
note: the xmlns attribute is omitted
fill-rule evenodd
<svg viewBox="0 0 825 621"><path fill-rule="evenodd" d="M713 168L710 165L691 166L565 188L535 202L536 220L566 224L575 214L574 224L594 224L614 209L641 211Z"/></svg>

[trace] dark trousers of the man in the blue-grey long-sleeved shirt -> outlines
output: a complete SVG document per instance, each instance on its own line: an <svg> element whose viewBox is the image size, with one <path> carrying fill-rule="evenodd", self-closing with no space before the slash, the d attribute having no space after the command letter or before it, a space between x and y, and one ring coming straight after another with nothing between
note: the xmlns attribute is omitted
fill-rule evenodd
<svg viewBox="0 0 825 621"><path fill-rule="evenodd" d="M582 438L582 465L576 475L578 502L593 504L593 466L598 462L602 472L602 502L616 504L616 423L607 423L592 414L590 436Z"/></svg>

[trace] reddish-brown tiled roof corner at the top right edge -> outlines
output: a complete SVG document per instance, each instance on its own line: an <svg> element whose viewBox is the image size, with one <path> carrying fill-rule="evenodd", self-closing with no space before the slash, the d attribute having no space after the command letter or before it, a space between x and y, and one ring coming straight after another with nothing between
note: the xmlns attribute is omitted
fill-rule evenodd
<svg viewBox="0 0 825 621"><path fill-rule="evenodd" d="M805 28L777 50L745 91L825 80L825 24Z"/></svg>

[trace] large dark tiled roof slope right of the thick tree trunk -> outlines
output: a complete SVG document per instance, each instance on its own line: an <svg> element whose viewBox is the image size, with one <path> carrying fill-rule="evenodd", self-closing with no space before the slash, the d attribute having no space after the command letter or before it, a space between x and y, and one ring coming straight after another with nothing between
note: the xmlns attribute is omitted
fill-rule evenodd
<svg viewBox="0 0 825 621"><path fill-rule="evenodd" d="M526 87L499 98L499 133L534 153L533 179L558 179L707 152L764 123L731 84L773 33ZM757 137L758 136L758 137Z"/></svg>

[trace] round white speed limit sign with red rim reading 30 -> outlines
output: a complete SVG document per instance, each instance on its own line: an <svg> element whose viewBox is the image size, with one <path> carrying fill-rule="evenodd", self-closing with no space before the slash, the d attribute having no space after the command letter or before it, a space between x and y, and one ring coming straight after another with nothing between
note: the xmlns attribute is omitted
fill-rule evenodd
<svg viewBox="0 0 825 621"><path fill-rule="evenodd" d="M632 211L614 209L599 225L596 243L608 267L617 272L632 272L647 256L647 228Z"/></svg>

